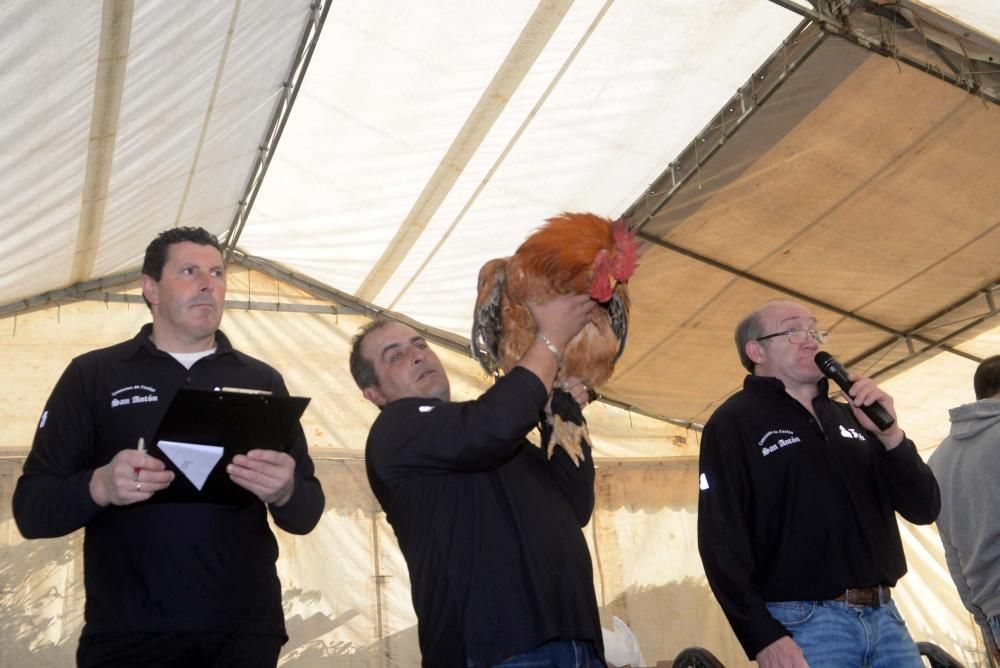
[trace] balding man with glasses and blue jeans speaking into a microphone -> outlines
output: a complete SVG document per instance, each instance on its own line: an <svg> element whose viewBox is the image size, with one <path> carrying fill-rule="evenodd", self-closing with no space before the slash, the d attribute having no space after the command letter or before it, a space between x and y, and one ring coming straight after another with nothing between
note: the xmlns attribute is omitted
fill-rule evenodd
<svg viewBox="0 0 1000 668"><path fill-rule="evenodd" d="M702 436L702 563L761 666L922 666L892 602L906 572L895 514L933 522L937 482L892 398L817 359L825 338L806 308L785 301L736 328L750 375ZM829 398L818 362L849 404Z"/></svg>

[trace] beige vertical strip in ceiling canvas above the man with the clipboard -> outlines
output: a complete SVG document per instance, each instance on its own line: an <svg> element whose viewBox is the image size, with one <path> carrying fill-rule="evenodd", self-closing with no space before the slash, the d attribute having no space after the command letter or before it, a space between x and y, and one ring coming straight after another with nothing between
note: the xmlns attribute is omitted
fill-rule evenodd
<svg viewBox="0 0 1000 668"><path fill-rule="evenodd" d="M122 93L125 90L133 9L133 0L104 0L101 9L101 43L98 47L80 224L73 253L73 267L70 270L71 283L90 277L100 247Z"/></svg>

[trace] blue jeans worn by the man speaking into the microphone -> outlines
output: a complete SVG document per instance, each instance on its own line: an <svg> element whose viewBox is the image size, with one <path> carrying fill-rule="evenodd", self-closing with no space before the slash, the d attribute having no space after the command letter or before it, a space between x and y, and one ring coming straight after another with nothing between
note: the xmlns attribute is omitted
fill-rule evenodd
<svg viewBox="0 0 1000 668"><path fill-rule="evenodd" d="M917 645L893 602L781 601L767 610L792 634L809 668L922 668Z"/></svg>

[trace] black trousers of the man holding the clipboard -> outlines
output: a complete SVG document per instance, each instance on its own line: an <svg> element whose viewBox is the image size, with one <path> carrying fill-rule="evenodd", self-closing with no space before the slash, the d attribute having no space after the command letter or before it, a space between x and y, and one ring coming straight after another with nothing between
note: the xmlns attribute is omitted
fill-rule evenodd
<svg viewBox="0 0 1000 668"><path fill-rule="evenodd" d="M285 639L250 633L101 633L80 638L79 668L274 668Z"/></svg>

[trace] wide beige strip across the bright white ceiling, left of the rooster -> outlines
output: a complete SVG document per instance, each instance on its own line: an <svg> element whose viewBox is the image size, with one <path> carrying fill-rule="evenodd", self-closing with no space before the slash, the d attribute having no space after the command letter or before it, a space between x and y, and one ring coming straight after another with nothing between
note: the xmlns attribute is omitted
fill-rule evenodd
<svg viewBox="0 0 1000 668"><path fill-rule="evenodd" d="M524 77L538 60L538 56L549 43L572 4L572 0L559 0L541 2L535 8L507 53L507 57L483 90L462 128L455 135L451 146L417 196L399 229L396 230L396 234L361 282L355 292L359 298L366 301L375 299L406 259L513 99Z"/></svg>

